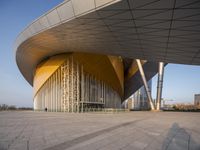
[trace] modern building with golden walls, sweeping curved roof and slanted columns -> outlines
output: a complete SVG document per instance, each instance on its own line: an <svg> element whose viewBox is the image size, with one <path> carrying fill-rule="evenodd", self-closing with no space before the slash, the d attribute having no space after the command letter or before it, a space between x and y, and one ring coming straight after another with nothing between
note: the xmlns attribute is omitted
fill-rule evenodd
<svg viewBox="0 0 200 150"><path fill-rule="evenodd" d="M198 5L195 0L63 1L16 39L16 62L34 88L34 109L120 108L143 85L151 109L159 109L164 64L200 64ZM157 72L154 106L147 81Z"/></svg>

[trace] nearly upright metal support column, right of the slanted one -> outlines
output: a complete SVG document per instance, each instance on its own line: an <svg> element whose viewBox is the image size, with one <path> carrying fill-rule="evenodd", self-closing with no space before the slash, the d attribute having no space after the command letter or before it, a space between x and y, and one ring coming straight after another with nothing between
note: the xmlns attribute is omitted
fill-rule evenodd
<svg viewBox="0 0 200 150"><path fill-rule="evenodd" d="M164 76L164 63L159 62L158 67L159 68L158 68L158 82L157 82L157 95L156 95L156 110L160 110L160 107L161 107L163 76Z"/></svg>

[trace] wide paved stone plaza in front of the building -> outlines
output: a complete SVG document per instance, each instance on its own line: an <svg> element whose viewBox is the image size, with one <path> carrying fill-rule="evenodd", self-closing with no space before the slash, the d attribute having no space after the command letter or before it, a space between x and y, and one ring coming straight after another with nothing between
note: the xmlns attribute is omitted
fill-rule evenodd
<svg viewBox="0 0 200 150"><path fill-rule="evenodd" d="M0 112L0 149L200 149L200 113Z"/></svg>

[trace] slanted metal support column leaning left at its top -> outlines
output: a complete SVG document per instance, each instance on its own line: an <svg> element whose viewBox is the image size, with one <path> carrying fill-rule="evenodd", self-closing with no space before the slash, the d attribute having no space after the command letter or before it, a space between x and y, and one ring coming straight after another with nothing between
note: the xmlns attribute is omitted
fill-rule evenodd
<svg viewBox="0 0 200 150"><path fill-rule="evenodd" d="M151 97L151 92L150 92L150 89L149 89L148 84L147 84L147 80L146 80L146 77L145 77L145 74L144 74L144 70L142 68L141 61L140 61L140 59L136 59L136 62L137 62L137 65L138 65L138 68L139 68L139 71L140 71L140 75L142 77L142 81L143 81L143 84L144 84L145 91L147 93L147 97L148 97L148 100L149 100L149 104L151 106L151 110L155 110L153 100L152 100L152 97Z"/></svg>

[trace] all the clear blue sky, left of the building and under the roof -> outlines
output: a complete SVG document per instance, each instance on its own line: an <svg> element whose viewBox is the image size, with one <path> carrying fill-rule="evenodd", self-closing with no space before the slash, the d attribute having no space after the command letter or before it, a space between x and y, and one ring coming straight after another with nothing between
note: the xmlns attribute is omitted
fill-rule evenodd
<svg viewBox="0 0 200 150"><path fill-rule="evenodd" d="M0 104L32 106L32 87L15 63L17 35L34 19L63 0L0 0ZM157 77L153 78L153 97ZM200 67L169 64L165 68L163 98L193 102L200 93Z"/></svg>

